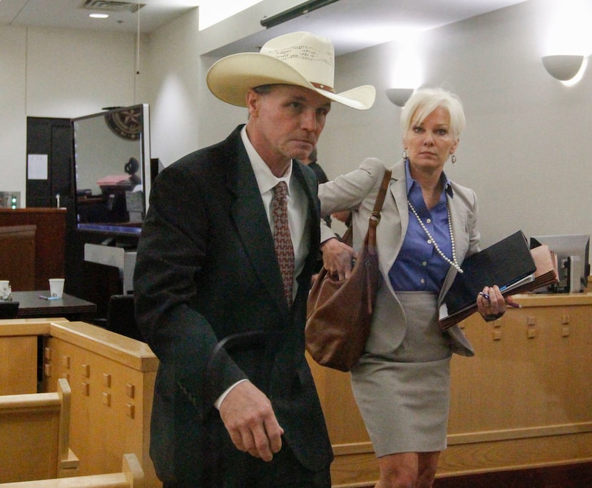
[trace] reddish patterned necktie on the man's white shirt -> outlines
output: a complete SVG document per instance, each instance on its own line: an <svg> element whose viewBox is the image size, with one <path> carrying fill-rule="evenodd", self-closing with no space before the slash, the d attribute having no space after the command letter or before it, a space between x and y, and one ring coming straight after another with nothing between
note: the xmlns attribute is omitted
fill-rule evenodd
<svg viewBox="0 0 592 488"><path fill-rule="evenodd" d="M280 263L284 292L288 307L292 306L292 285L294 283L294 247L290 237L290 227L287 223L287 185L280 181L273 188L273 242L277 262Z"/></svg>

